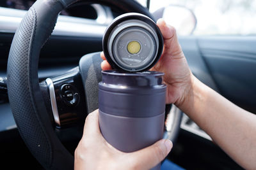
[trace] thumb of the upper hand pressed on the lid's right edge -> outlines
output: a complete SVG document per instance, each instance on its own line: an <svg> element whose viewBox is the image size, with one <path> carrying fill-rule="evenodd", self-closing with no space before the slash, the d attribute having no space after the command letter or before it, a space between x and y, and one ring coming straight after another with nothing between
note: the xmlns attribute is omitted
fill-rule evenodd
<svg viewBox="0 0 256 170"><path fill-rule="evenodd" d="M179 45L176 30L174 27L167 25L163 18L157 20L157 26L159 27L164 38L164 52L170 56L179 55L182 50Z"/></svg>

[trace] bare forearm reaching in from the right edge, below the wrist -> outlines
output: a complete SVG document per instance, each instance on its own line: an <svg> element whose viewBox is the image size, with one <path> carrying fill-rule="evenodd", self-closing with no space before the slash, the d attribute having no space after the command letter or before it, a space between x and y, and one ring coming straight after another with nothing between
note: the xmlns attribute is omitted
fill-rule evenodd
<svg viewBox="0 0 256 170"><path fill-rule="evenodd" d="M256 115L239 108L195 77L179 108L240 166L256 169Z"/></svg>

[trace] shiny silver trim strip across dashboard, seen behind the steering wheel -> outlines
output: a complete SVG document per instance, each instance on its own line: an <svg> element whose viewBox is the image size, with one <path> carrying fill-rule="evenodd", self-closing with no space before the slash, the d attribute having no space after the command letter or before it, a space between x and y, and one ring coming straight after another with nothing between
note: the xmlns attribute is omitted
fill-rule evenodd
<svg viewBox="0 0 256 170"><path fill-rule="evenodd" d="M0 32L15 33L26 12L26 10L0 7ZM52 35L102 38L107 27L107 23L102 24L103 20L109 22L113 17L104 18L102 13L100 13L100 16L96 20L92 20L60 15Z"/></svg>

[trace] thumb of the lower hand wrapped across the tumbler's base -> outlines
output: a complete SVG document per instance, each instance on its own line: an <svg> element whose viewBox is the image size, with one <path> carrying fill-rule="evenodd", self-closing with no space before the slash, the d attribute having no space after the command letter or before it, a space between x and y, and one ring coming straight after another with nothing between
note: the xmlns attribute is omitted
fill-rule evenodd
<svg viewBox="0 0 256 170"><path fill-rule="evenodd" d="M168 139L161 139L142 150L131 153L131 159L134 163L134 169L150 169L159 164L171 151L172 141Z"/></svg>

